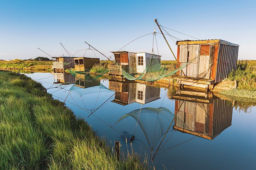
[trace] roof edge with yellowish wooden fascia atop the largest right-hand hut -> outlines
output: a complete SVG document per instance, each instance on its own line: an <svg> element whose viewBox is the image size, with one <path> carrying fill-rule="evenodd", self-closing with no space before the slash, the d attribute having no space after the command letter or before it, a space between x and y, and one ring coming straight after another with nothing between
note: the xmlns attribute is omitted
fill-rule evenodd
<svg viewBox="0 0 256 170"><path fill-rule="evenodd" d="M178 44L204 44L204 43L221 43L221 44L227 44L231 46L237 46L239 47L238 44L233 44L228 41L220 40L220 39L211 39L211 40L182 40L182 41L177 41L176 45Z"/></svg>

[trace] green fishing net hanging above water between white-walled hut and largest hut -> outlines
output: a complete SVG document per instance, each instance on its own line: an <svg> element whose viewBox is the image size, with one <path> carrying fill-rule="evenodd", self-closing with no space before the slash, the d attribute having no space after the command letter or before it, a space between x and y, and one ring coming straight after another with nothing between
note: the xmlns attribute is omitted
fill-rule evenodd
<svg viewBox="0 0 256 170"><path fill-rule="evenodd" d="M144 81L156 81L164 77L172 76L176 72L184 69L187 67L188 64L192 63L196 58L188 61L187 63L183 63L180 65L180 68L176 70L169 70L168 66L161 66L161 61L158 57L152 55L149 60L149 64L146 66L146 69L143 70L142 73L138 74L137 76L133 73L139 72L139 66L131 67L131 66L122 66L122 74L128 80L144 80Z"/></svg>

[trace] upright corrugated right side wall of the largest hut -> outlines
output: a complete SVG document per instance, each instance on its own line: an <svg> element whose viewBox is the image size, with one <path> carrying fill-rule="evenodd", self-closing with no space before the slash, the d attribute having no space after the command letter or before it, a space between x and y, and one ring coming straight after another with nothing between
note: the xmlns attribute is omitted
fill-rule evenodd
<svg viewBox="0 0 256 170"><path fill-rule="evenodd" d="M232 69L236 70L238 57L238 47L227 44L220 44L217 61L215 83L228 78Z"/></svg>

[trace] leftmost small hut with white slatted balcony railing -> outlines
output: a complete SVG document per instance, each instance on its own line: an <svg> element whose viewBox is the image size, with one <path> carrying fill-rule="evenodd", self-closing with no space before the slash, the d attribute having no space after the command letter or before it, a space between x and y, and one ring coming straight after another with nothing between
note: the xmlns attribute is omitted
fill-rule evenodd
<svg viewBox="0 0 256 170"><path fill-rule="evenodd" d="M75 66L73 57L52 57L52 61L52 69L54 72L64 72L64 70Z"/></svg>

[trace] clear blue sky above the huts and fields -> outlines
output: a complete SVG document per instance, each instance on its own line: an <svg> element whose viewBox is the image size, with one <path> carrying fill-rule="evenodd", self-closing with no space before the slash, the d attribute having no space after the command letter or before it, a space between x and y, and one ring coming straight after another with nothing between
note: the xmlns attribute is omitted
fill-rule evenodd
<svg viewBox="0 0 256 170"><path fill-rule="evenodd" d="M255 1L246 0L1 0L0 59L46 57L38 47L52 56L67 55L60 42L72 48L67 47L74 54L74 50L88 48L84 41L109 56L108 51L117 51L141 35L154 32L154 19L157 18L162 26L199 39L222 39L239 44L238 58L256 60L255 6ZM156 32L160 32L158 28ZM193 39L171 30L168 32L182 40ZM174 60L162 35L157 34L156 38L162 59ZM152 39L152 35L147 35L123 50L151 53ZM168 41L176 54L175 43L170 37ZM154 51L157 53L156 48ZM87 51L85 55L94 54Z"/></svg>

